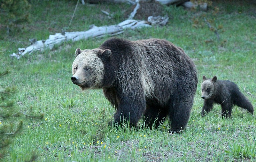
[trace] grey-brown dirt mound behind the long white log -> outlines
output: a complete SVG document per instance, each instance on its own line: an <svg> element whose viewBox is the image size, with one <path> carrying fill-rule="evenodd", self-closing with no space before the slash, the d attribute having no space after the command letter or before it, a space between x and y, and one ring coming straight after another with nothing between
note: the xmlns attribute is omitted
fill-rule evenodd
<svg viewBox="0 0 256 162"><path fill-rule="evenodd" d="M136 20L147 20L149 16L163 16L164 6L157 1L140 1L140 8L137 10L137 13L133 19ZM136 5L133 5L128 9L124 16L128 18L131 12L133 12Z"/></svg>

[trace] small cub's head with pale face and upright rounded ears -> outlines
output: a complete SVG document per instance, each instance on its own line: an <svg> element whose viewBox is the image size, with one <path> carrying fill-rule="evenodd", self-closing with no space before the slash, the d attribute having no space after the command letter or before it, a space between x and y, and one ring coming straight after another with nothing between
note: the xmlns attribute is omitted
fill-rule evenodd
<svg viewBox="0 0 256 162"><path fill-rule="evenodd" d="M206 79L206 77L203 76L203 83L201 84L202 99L209 99L212 97L214 92L214 83L216 81L216 76L214 76L212 79Z"/></svg>

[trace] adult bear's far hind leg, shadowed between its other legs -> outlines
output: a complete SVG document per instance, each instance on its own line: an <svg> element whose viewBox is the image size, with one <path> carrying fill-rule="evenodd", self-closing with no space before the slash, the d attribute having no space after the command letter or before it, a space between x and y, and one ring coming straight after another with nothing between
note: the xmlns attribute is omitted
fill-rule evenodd
<svg viewBox="0 0 256 162"><path fill-rule="evenodd" d="M150 129L158 128L158 126L165 121L167 114L168 113L163 109L159 109L154 106L147 106L144 113L145 126Z"/></svg>

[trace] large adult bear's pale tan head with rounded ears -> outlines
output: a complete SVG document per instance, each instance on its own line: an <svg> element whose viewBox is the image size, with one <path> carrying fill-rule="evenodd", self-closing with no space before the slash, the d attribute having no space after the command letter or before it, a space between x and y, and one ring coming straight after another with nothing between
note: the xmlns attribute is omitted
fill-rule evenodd
<svg viewBox="0 0 256 162"><path fill-rule="evenodd" d="M81 50L77 48L75 54L76 58L72 65L72 82L80 86L82 90L87 88L102 88L104 75L102 59L107 59L111 55L111 50L102 50L99 48Z"/></svg>

